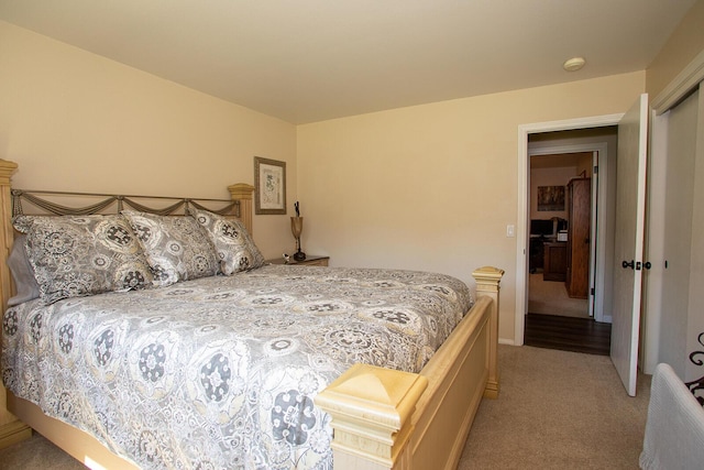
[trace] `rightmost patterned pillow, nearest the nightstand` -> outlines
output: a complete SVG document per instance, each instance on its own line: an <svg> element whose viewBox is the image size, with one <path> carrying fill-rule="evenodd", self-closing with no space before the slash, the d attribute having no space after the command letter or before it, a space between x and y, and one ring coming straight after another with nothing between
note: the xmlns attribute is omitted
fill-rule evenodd
<svg viewBox="0 0 704 470"><path fill-rule="evenodd" d="M240 220L194 207L188 208L188 214L208 232L216 247L222 274L229 276L264 265L264 256Z"/></svg>

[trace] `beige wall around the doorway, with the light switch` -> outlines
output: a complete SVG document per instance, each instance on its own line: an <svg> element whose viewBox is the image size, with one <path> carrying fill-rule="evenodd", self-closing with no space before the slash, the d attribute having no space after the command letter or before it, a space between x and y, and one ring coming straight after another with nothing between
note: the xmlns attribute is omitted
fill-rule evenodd
<svg viewBox="0 0 704 470"><path fill-rule="evenodd" d="M298 127L304 249L331 265L421 269L472 283L506 270L499 336L514 338L518 127L626 111L645 72Z"/></svg>

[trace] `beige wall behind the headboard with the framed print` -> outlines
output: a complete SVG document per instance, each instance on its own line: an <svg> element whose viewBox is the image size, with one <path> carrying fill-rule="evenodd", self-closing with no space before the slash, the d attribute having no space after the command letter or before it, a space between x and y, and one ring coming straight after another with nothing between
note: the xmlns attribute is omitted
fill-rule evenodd
<svg viewBox="0 0 704 470"><path fill-rule="evenodd" d="M0 21L0 159L31 189L227 198L254 155L287 162L293 124ZM286 216L255 216L266 256L293 249Z"/></svg>

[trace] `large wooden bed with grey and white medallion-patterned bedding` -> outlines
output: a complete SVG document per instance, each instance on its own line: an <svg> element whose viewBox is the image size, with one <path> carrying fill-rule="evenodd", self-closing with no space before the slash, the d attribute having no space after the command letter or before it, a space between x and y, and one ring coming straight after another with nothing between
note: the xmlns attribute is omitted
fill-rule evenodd
<svg viewBox="0 0 704 470"><path fill-rule="evenodd" d="M20 214L31 194L11 192L15 170L0 161L3 307L13 297L0 442L26 424L91 468L454 468L480 401L498 394L501 270L473 273L474 299L433 273L266 265L243 184L222 210L177 199L152 214L114 197L120 216L78 211L66 228L66 216ZM38 265L36 253L66 243L47 236L57 223L79 239L76 220L120 244L129 269L46 282L63 265ZM237 250L219 243L222 227L235 227ZM20 300L4 262L15 229L40 291ZM136 249L125 248L130 229ZM179 243L158 241L178 231ZM110 253L84 258L114 265Z"/></svg>

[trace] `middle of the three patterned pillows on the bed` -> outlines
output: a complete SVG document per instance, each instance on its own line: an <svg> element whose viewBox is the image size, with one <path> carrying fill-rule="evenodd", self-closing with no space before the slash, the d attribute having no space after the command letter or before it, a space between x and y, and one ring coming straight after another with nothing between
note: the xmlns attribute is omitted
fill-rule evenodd
<svg viewBox="0 0 704 470"><path fill-rule="evenodd" d="M154 285L218 274L218 260L206 231L191 217L123 210L152 267Z"/></svg>

